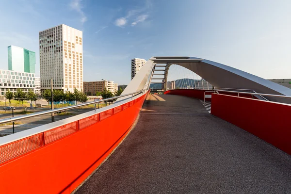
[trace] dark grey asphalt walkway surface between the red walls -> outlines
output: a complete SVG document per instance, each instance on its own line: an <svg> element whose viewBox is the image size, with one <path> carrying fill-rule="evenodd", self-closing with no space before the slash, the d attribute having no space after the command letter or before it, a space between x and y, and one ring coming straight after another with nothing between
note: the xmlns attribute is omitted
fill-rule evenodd
<svg viewBox="0 0 291 194"><path fill-rule="evenodd" d="M148 96L134 129L77 193L291 193L288 154L205 113L197 99Z"/></svg>

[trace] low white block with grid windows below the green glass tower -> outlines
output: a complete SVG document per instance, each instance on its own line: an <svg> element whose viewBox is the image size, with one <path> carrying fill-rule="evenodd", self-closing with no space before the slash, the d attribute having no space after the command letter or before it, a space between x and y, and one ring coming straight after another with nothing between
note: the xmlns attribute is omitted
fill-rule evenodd
<svg viewBox="0 0 291 194"><path fill-rule="evenodd" d="M17 88L21 88L24 92L28 92L29 89L35 91L35 74L0 70L0 90L1 96L5 95L8 91L16 92Z"/></svg>

